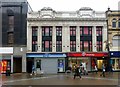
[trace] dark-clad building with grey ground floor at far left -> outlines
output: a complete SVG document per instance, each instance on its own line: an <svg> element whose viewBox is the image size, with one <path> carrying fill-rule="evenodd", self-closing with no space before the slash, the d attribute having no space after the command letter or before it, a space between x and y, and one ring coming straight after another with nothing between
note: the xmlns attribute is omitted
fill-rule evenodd
<svg viewBox="0 0 120 87"><path fill-rule="evenodd" d="M6 73L26 72L26 26L28 5L26 0L0 1L0 67Z"/></svg>

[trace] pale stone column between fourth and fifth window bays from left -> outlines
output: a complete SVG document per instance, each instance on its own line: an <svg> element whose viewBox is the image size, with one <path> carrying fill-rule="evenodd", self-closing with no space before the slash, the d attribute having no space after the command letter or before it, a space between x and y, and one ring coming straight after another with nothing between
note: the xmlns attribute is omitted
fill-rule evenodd
<svg viewBox="0 0 120 87"><path fill-rule="evenodd" d="M80 52L80 28L76 27L76 52Z"/></svg>

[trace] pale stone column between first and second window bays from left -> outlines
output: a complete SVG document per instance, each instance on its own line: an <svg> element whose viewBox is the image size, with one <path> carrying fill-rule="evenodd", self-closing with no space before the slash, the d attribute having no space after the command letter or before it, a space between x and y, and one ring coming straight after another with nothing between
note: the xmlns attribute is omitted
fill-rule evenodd
<svg viewBox="0 0 120 87"><path fill-rule="evenodd" d="M42 28L41 28L41 26L38 26L38 37L37 37L37 39L38 39L38 44L37 44L38 52L41 52L41 50L42 50Z"/></svg>

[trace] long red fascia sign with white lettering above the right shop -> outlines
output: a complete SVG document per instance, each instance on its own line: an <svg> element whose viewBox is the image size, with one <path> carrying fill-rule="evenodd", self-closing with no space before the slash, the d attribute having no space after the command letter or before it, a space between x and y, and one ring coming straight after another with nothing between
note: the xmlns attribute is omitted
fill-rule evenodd
<svg viewBox="0 0 120 87"><path fill-rule="evenodd" d="M81 52L81 53L68 53L68 57L107 57L108 53L86 53L86 52Z"/></svg>

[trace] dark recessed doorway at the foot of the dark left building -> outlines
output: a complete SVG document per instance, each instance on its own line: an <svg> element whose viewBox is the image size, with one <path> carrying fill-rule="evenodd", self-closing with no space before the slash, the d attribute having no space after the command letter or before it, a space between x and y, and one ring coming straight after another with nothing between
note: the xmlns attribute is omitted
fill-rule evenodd
<svg viewBox="0 0 120 87"><path fill-rule="evenodd" d="M13 58L13 72L14 73L22 72L22 57Z"/></svg>

